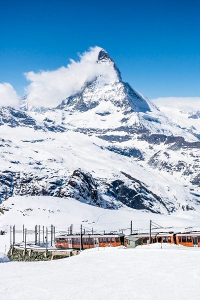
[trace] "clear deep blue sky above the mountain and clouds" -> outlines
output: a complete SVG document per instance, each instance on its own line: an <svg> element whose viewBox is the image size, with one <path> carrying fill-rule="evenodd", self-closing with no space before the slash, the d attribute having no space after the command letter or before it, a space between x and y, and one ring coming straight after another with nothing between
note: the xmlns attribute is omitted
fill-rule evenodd
<svg viewBox="0 0 200 300"><path fill-rule="evenodd" d="M22 95L23 72L98 45L147 97L200 96L199 9L198 0L1 0L0 82Z"/></svg>

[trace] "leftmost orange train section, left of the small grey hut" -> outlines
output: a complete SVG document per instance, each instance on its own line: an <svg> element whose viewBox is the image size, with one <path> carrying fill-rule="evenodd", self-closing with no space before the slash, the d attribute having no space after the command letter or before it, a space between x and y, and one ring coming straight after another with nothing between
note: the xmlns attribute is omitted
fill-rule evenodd
<svg viewBox="0 0 200 300"><path fill-rule="evenodd" d="M124 234L83 234L81 248L88 249L104 246L120 246L124 243ZM64 234L55 237L57 248L80 248L80 234Z"/></svg>

